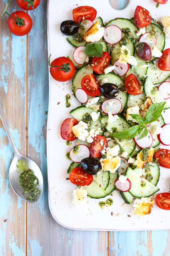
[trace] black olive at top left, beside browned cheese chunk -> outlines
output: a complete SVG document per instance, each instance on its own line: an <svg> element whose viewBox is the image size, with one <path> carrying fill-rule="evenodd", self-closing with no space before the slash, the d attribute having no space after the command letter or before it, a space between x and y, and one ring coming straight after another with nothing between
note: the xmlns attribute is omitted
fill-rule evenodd
<svg viewBox="0 0 170 256"><path fill-rule="evenodd" d="M61 32L66 35L66 36L70 36L70 35L74 35L79 29L78 24L75 21L63 21L60 25L60 30Z"/></svg>

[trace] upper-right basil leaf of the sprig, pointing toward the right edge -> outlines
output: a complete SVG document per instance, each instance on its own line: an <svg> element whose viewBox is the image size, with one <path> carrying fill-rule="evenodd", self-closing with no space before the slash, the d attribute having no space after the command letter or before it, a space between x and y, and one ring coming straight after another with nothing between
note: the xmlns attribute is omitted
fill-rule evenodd
<svg viewBox="0 0 170 256"><path fill-rule="evenodd" d="M146 115L144 117L144 123L149 124L149 123L156 121L160 117L160 115L164 109L165 103L166 102L163 101L160 103L151 104L149 106L148 112L146 113Z"/></svg>

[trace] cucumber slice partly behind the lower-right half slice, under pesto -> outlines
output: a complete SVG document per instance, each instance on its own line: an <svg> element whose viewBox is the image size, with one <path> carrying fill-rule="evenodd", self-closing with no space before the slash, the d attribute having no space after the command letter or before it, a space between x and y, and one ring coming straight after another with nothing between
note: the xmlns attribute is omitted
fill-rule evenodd
<svg viewBox="0 0 170 256"><path fill-rule="evenodd" d="M154 186L156 186L158 184L159 181L159 177L160 177L160 168L159 165L157 163L149 163L149 168L150 171L145 172L145 168L134 168L133 171L135 171L136 173L138 173L140 176L144 175L145 179L148 179L149 181L149 175L151 174L153 179L151 181L149 181L150 183L152 183Z"/></svg>

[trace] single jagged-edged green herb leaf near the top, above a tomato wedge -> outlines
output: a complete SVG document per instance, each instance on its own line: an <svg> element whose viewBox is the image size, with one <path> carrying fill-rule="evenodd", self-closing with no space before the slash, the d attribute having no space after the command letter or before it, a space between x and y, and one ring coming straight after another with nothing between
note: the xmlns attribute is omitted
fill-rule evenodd
<svg viewBox="0 0 170 256"><path fill-rule="evenodd" d="M99 43L89 44L85 47L85 54L93 57L102 57L103 45Z"/></svg>

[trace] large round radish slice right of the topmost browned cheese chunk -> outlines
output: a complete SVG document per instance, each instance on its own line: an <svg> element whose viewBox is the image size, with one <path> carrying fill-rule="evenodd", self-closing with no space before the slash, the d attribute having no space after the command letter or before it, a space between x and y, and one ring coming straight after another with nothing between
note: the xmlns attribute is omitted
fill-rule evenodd
<svg viewBox="0 0 170 256"><path fill-rule="evenodd" d="M108 44L116 44L122 38L122 30L115 25L110 25L105 28L103 38Z"/></svg>

